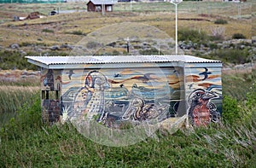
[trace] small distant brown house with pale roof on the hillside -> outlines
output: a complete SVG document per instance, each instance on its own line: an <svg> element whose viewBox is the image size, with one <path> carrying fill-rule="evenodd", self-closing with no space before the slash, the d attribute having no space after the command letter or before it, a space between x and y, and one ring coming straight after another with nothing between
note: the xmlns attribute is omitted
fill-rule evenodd
<svg viewBox="0 0 256 168"><path fill-rule="evenodd" d="M113 0L90 0L87 3L88 12L112 12L113 11Z"/></svg>

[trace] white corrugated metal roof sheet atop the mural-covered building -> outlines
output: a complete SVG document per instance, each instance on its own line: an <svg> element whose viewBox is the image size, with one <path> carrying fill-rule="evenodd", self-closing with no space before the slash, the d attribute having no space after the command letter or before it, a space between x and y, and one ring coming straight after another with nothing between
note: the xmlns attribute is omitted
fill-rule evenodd
<svg viewBox="0 0 256 168"><path fill-rule="evenodd" d="M113 64L113 63L160 63L160 62L221 62L191 55L104 55L104 56L26 56L28 61L44 65L59 64Z"/></svg>

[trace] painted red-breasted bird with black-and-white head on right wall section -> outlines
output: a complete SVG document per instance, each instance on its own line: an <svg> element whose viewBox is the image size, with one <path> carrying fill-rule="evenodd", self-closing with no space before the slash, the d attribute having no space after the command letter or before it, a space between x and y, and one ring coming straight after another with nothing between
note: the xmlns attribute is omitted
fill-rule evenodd
<svg viewBox="0 0 256 168"><path fill-rule="evenodd" d="M198 89L189 96L189 120L192 125L206 126L211 121L218 121L219 113L215 104L210 100L215 96L211 92Z"/></svg>

